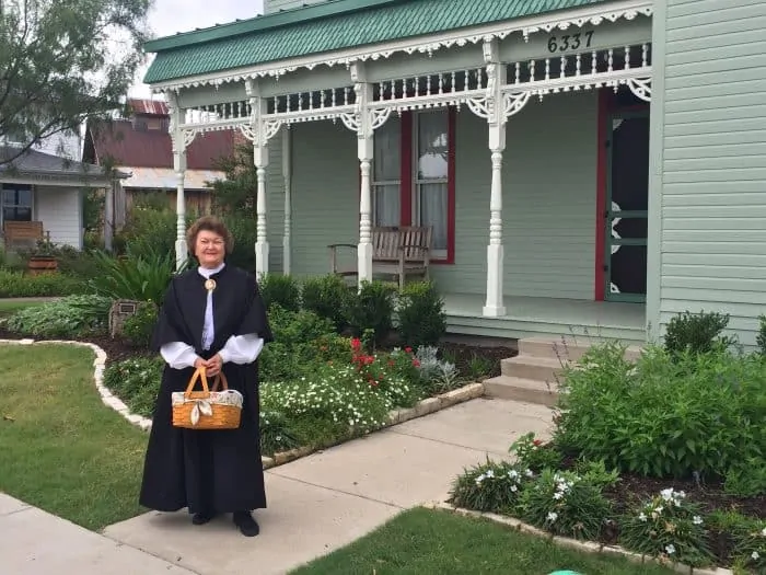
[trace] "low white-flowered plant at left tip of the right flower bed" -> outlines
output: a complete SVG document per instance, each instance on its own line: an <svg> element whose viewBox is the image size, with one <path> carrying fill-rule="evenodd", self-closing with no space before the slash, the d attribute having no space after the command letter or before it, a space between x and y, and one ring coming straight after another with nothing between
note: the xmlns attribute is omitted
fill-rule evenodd
<svg viewBox="0 0 766 575"><path fill-rule="evenodd" d="M487 459L459 475L452 484L449 503L477 511L517 513L519 496L534 478L523 465Z"/></svg>

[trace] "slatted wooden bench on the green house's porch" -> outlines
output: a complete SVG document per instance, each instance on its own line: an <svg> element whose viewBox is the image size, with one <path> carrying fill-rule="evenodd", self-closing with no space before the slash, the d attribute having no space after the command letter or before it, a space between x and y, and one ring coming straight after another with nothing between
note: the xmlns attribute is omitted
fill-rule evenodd
<svg viewBox="0 0 766 575"><path fill-rule="evenodd" d="M428 279L428 266L431 256L431 238L433 228L430 226L381 227L372 229L372 273L391 275L398 280L399 289L404 288L405 278L409 275L422 276ZM340 276L358 275L357 260L348 267L338 263L338 249L357 250L356 244L334 243L327 246L330 252L330 269Z"/></svg>

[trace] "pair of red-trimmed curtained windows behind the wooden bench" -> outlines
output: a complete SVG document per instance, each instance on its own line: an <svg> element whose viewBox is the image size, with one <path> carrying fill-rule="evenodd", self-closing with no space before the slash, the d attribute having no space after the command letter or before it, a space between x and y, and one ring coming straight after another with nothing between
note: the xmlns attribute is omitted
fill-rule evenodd
<svg viewBox="0 0 766 575"><path fill-rule="evenodd" d="M375 130L374 226L432 226L432 257L454 262L454 110L403 113Z"/></svg>

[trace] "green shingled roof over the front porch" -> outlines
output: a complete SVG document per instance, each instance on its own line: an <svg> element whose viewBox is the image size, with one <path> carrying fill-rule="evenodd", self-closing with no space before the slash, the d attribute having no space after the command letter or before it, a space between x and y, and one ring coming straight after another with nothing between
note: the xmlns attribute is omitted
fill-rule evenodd
<svg viewBox="0 0 766 575"><path fill-rule="evenodd" d="M146 83L512 20L606 0L336 0L147 43Z"/></svg>

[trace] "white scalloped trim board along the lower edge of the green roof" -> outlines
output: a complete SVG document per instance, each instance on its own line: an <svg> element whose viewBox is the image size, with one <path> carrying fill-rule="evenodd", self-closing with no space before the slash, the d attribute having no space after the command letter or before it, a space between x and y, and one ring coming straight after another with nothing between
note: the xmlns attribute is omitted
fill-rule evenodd
<svg viewBox="0 0 766 575"><path fill-rule="evenodd" d="M346 66L355 62L375 61L391 57L396 53L426 54L453 46L478 44L485 39L503 39L511 34L519 33L525 39L535 32L549 32L555 28L567 30L570 26L583 26L585 24L599 25L602 22L617 22L620 19L635 20L638 15L651 16L653 2L648 0L624 0L610 4L594 4L574 10L567 10L559 14L538 14L506 22L496 22L483 26L473 26L442 34L433 34L427 38L402 38L378 45L373 50L364 50L364 47L355 47L337 50L329 54L315 54L301 58L280 60L251 66L240 70L219 71L207 74L197 74L184 79L175 79L152 84L153 92L178 91L187 88L204 85L219 87L230 82L240 82L256 78L279 78L299 69L313 70L317 66Z"/></svg>

